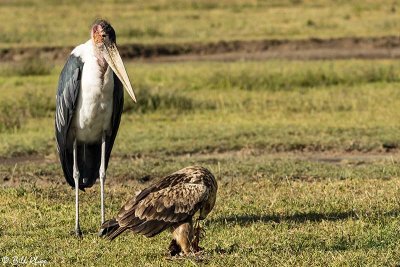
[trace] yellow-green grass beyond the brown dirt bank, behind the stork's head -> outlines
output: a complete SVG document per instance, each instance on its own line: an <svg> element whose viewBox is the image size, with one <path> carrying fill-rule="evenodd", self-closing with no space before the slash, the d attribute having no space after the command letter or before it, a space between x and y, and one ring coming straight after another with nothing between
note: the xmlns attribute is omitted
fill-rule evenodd
<svg viewBox="0 0 400 267"><path fill-rule="evenodd" d="M2 1L0 47L77 45L97 17L121 44L398 35L398 9L391 0Z"/></svg>

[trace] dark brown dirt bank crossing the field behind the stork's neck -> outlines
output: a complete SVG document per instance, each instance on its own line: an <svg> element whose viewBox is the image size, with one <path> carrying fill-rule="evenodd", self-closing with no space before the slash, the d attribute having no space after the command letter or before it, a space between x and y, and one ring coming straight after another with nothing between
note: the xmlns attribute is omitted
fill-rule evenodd
<svg viewBox="0 0 400 267"><path fill-rule="evenodd" d="M336 38L307 40L219 41L182 44L125 44L123 58L146 61L264 60L264 59L384 59L400 58L400 37ZM39 56L64 60L72 47L0 49L0 61L19 61Z"/></svg>

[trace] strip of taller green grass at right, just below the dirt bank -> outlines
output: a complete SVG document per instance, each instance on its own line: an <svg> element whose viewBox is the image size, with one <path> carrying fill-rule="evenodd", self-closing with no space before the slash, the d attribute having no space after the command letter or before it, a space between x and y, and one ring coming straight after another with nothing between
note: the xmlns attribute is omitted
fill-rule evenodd
<svg viewBox="0 0 400 267"><path fill-rule="evenodd" d="M328 68L299 68L288 72L286 69L239 70L226 73L217 71L208 78L207 83L214 89L240 88L242 90L291 90L321 86L355 85L373 82L399 82L400 75L392 65L368 65L350 70L333 66Z"/></svg>

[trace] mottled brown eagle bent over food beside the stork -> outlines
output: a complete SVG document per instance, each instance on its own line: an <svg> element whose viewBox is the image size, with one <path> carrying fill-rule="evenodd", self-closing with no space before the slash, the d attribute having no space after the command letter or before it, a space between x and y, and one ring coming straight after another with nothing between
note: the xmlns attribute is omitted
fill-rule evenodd
<svg viewBox="0 0 400 267"><path fill-rule="evenodd" d="M198 245L193 243L192 217L199 211L199 219L205 219L214 207L216 193L217 182L209 170L186 167L130 199L116 218L102 225L100 234L112 240L131 230L152 237L171 227L171 246L178 245L177 249L187 254Z"/></svg>

